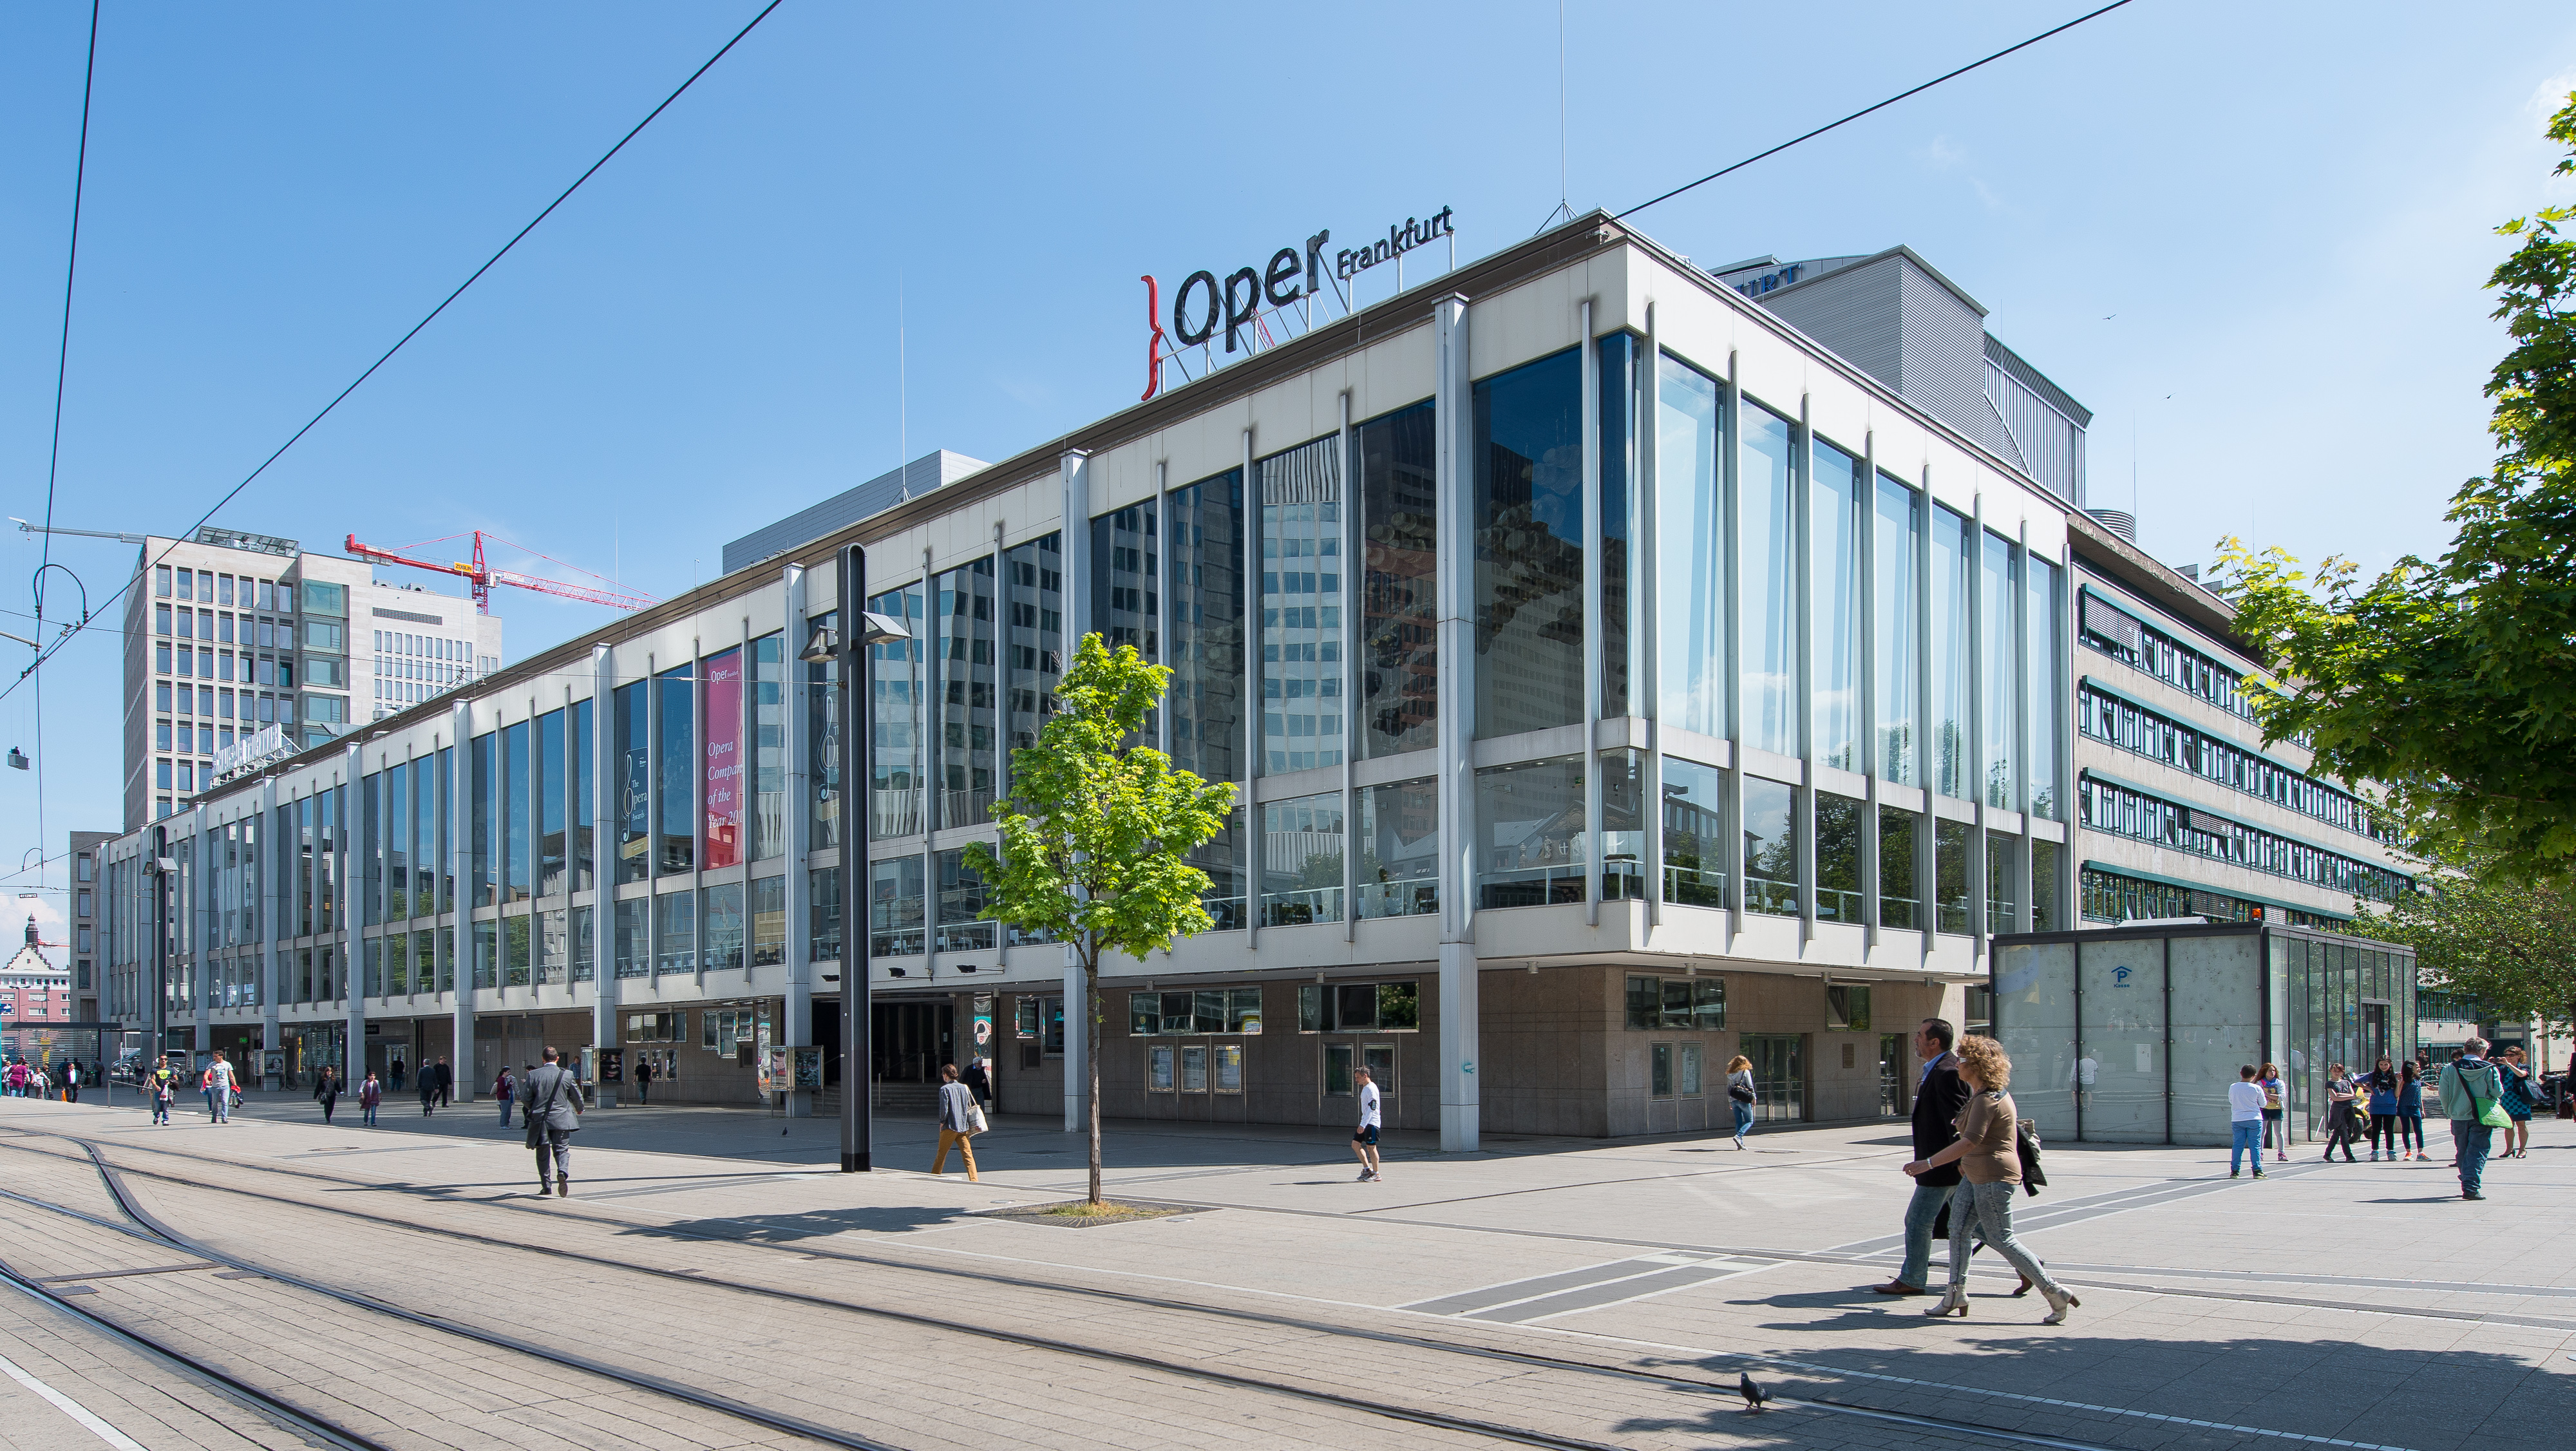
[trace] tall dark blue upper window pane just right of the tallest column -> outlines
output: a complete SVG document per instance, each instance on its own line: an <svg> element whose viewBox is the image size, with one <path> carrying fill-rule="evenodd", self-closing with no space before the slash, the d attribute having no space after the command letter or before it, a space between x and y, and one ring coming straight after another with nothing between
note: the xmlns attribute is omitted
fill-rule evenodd
<svg viewBox="0 0 2576 1451"><path fill-rule="evenodd" d="M1484 379L1476 397L1476 740L1582 719L1582 353Z"/></svg>

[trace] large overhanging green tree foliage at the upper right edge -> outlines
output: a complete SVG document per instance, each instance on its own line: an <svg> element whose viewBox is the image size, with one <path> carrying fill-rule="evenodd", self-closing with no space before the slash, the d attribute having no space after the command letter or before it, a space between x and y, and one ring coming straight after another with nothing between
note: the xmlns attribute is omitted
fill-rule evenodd
<svg viewBox="0 0 2576 1451"><path fill-rule="evenodd" d="M2576 175L2576 95L2550 119ZM2434 562L2375 580L2329 557L2316 575L2280 549L2221 544L2215 588L2267 655L2249 691L2269 740L2385 789L2385 814L2481 879L2576 869L2576 206L2499 227L2522 242L2494 271L2512 351L2486 381L2496 466L2450 500Z"/></svg>

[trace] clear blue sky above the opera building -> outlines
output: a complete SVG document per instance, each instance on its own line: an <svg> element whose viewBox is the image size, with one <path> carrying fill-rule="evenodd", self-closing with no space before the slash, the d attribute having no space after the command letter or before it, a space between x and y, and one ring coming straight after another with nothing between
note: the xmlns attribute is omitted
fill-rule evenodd
<svg viewBox="0 0 2576 1451"><path fill-rule="evenodd" d="M2087 8L1569 3L1566 191L1628 206ZM183 528L755 10L111 0L57 521ZM479 526L667 595L907 451L1133 402L1139 273L1440 206L1461 255L1530 235L1556 21L788 0L219 521ZM10 515L44 508L85 31L0 8ZM2540 137L2571 88L2566 5L2138 0L1636 222L1703 263L1909 242L2097 410L2094 503L2136 477L2154 554L2380 564L2439 546L2491 456L2491 227L2571 193ZM26 634L36 544L0 552ZM93 598L131 554L54 549ZM513 657L603 619L497 613ZM46 853L118 825L116 701L108 634L46 668ZM36 750L26 688L0 732ZM5 871L36 776L0 771L0 809Z"/></svg>

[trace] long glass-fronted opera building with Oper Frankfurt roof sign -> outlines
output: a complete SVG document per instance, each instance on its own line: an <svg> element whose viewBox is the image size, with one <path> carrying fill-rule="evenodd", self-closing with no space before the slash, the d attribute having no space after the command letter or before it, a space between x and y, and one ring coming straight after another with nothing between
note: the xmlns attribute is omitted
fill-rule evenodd
<svg viewBox="0 0 2576 1451"><path fill-rule="evenodd" d="M551 1041L657 1100L817 1046L806 1111L866 972L871 1082L984 1052L1072 1126L1064 948L984 920L963 848L1100 631L1175 670L1154 745L1242 786L1195 856L1216 928L1105 972L1108 1113L1342 1124L1365 1064L1455 1149L1674 1131L1726 1121L1739 1052L1762 1119L1904 1113L1914 1023L1973 1018L1994 936L2074 925L2089 863L2272 879L2079 814L2076 680L2112 673L2079 601L2223 601L2079 508L2089 415L1968 304L1870 366L1772 307L1839 273L1873 276L1765 302L1595 214L762 541L111 843L111 1010L152 1015L160 850L180 1046L489 1082ZM855 608L912 631L871 647L866 781L804 660Z"/></svg>

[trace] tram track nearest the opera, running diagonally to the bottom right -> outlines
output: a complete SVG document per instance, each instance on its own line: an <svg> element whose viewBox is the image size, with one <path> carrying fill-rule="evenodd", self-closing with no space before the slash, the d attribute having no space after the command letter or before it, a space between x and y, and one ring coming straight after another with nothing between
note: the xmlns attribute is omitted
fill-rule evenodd
<svg viewBox="0 0 2576 1451"><path fill-rule="evenodd" d="M10 1134L15 1134L21 1139L31 1137L23 1129L10 1129ZM330 1216L343 1216L343 1219L358 1219L358 1222L379 1224L379 1227L397 1229L397 1232L433 1235L433 1237L446 1237L446 1240L489 1245L489 1247L497 1247L497 1250L528 1253L528 1255L541 1255L541 1258L554 1258L554 1260L572 1260L572 1263L585 1263L585 1265L595 1265L595 1268L608 1268L608 1271L647 1276L647 1278L680 1281L680 1283L703 1286L703 1289L721 1289L721 1291L739 1291L739 1294L750 1294L750 1296L760 1296L760 1299L770 1299L770 1302L791 1302L791 1304L804 1304L804 1307L814 1307L814 1309L835 1309L835 1312L850 1312L850 1314L863 1314L863 1317L894 1320L894 1322L904 1322L904 1325L914 1325L914 1327L927 1327L927 1330L966 1332L966 1335L976 1335L976 1338L987 1338L987 1340L1002 1340L1002 1343L1030 1348L1030 1350L1051 1350L1051 1353L1079 1356L1079 1358L1092 1358L1092 1361L1115 1361L1115 1363L1126 1363L1126 1366L1144 1369L1144 1371L1159 1371L1159 1374L1175 1374L1175 1376L1188 1376L1188 1379L1200 1379L1200 1381L1216 1381L1216 1384L1226 1384L1226 1387L1234 1387L1234 1389L1285 1394L1285 1397L1298 1397L1298 1399L1319 1399L1319 1402L1340 1405L1340 1407L1347 1407L1347 1410L1363 1410L1363 1412L1370 1412L1370 1415L1388 1415L1388 1417L1396 1417L1396 1420L1414 1420L1419 1425L1440 1425L1440 1428L1448 1428L1448 1430L1466 1430L1466 1433L1473 1433L1473 1436L1489 1436L1489 1438L1515 1441L1515 1443L1525 1443L1525 1446L1569 1446L1569 1448L1571 1446L1582 1446L1582 1448L1589 1448L1589 1451L1607 1451L1605 1446L1592 1443L1592 1441L1582 1441L1582 1438L1564 1438L1564 1436L1553 1436L1553 1433L1543 1433L1543 1430L1530 1430L1530 1428L1510 1428L1510 1425L1479 1423L1479 1420L1468 1420L1468 1417L1450 1417L1445 1412L1427 1412L1422 1407L1396 1407L1396 1405L1376 1402L1376 1399L1368 1399L1368 1397L1350 1397L1350 1394L1340 1394L1340 1392L1321 1392L1321 1389L1314 1389L1314 1387L1296 1387L1296 1384L1270 1381L1270 1379L1260 1379L1260 1376L1242 1376L1242 1374L1234 1374L1234 1371L1213 1371L1213 1369L1208 1369L1203 1363L1182 1363L1182 1361L1170 1361L1170 1358L1159 1358L1159 1356L1141 1356L1141 1353L1133 1353L1133 1350L1115 1350L1115 1348L1103 1348L1103 1345L1084 1345L1084 1343L1072 1343L1072 1340L1061 1340L1061 1338L1051 1338L1051 1335L1030 1335L1030 1332L1015 1332L1015 1330L999 1330L999 1327L984 1327L984 1325L961 1325L956 1320L945 1320L945 1317L930 1317L930 1314L917 1314L917 1312L907 1312L907 1309L891 1309L891 1307L881 1307L881 1304L863 1304L863 1302L840 1299L840 1296L829 1296L829 1294L814 1294L814 1291L799 1291L799 1289L783 1289L783 1286L762 1286L762 1283L737 1283L737 1281L716 1278L716 1276L708 1276L708 1273L701 1273L701 1271L672 1271L672 1268L659 1268L659 1265L641 1265L641 1263L634 1263L631 1258L595 1255L595 1253L567 1250L567 1247L556 1247L556 1245L528 1245L523 1240L507 1240L507 1237L497 1237L497 1235L482 1235L482 1232L453 1229L453 1227L440 1227L440 1224L422 1224L422 1222L415 1222L415 1219L397 1219L397 1216L389 1216L389 1214L371 1214L366 1209L350 1209L350 1206L340 1206L340 1204L312 1204L312 1201L304 1201L304 1198L265 1193L265 1191L255 1191L255 1188L240 1188L240 1186L229 1186L229 1183L214 1183L214 1180L206 1180L206 1178L188 1178L188 1175L178 1175L178 1173L160 1173L160 1170L131 1168L131 1165L108 1165L108 1160L100 1155L103 1144L95 1144L90 1139L80 1139L77 1134L41 1134L41 1137L59 1139L59 1142L80 1147L82 1155L98 1168L100 1178L111 1186L111 1193L116 1193L121 1204L131 1204L131 1201L121 1191L121 1186L116 1183L116 1178L118 1178L118 1173L134 1173L134 1175L142 1175L142 1178L170 1180L170 1183L198 1188L198 1191L216 1191L216 1193L229 1193L229 1196L242 1196L242 1198L255 1198L255 1201L268 1201L268 1204L283 1204L283 1206L294 1206L294 1209L309 1209L309 1211L317 1211L317 1214L330 1214ZM21 1147L26 1147L26 1144L21 1144ZM144 1144L113 1144L113 1147L116 1149L131 1149L131 1152L162 1155L162 1157L180 1157L180 1160L193 1160L193 1162L206 1162L206 1165L222 1165L222 1168L234 1168L234 1170L250 1168L250 1165L242 1165L240 1160L224 1160L224 1157L214 1157L214 1155L191 1155L191 1152L167 1149L167 1147L144 1147ZM46 1149L31 1149L31 1152L46 1152ZM70 1155L54 1155L54 1157L70 1160ZM407 1188L407 1186L371 1183L371 1180L358 1180L358 1178L345 1178L345 1175L317 1173L317 1170L307 1170L307 1168L294 1168L294 1170L265 1170L263 1168L260 1173L289 1173L289 1175L296 1175L296 1178L309 1178L309 1180L317 1180L317 1183L330 1183L335 1188L355 1188L355 1191L374 1191L374 1193L420 1193L420 1191ZM10 1196L10 1193L0 1191L0 1196ZM18 1196L10 1196L10 1198L18 1198ZM1023 1291L1043 1291L1043 1294L1059 1294L1059 1296L1097 1299L1097 1302L1113 1302L1113 1304L1126 1304L1126 1307L1139 1307L1139 1309L1151 1309L1151 1312L1167 1312L1167 1314L1206 1314L1206 1317L1218 1317L1218 1320L1231 1320L1231 1322L1249 1322L1249 1325L1260 1325L1260 1327L1303 1330L1303 1332L1319 1332L1319 1335L1334 1335L1334 1338L1376 1340L1376 1343L1386 1343L1386 1345L1401 1345L1401 1348L1417 1348L1417 1350L1435 1350L1435 1353L1445 1353L1445 1356L1471 1356L1471 1358L1484 1358L1484 1361L1504 1361L1504 1363L1515 1363L1515 1366L1528 1366L1533 1371L1558 1371L1558 1374L1579 1374L1579 1376L1607 1376L1607 1379L1620 1379L1620 1381L1631 1381L1631 1384L1651 1384L1651 1387L1656 1387L1662 1392L1687 1392L1687 1394L1708 1394L1708 1397L1728 1397L1728 1399L1736 1394L1734 1384L1718 1381L1718 1379L1703 1379L1703 1376L1682 1376L1682 1374L1669 1374L1669 1371L1646 1371L1646 1369L1636 1369L1636 1366L1618 1366L1618 1363L1602 1363L1602 1361L1574 1358L1574 1356L1546 1356L1546 1353L1517 1350L1517 1348L1507 1348L1507 1345L1479 1345L1479 1343L1466 1343L1466 1340L1453 1340L1453 1338L1440 1338L1440 1335L1412 1335L1412 1332L1399 1332L1399 1330L1370 1330L1370 1327L1355 1327L1355 1325L1347 1325L1347 1322L1324 1322L1324 1320L1301 1317L1301 1314L1275 1314L1275 1312L1257 1312L1257 1309L1242 1309L1242 1307L1203 1304L1203 1302L1172 1299L1172 1296L1154 1296L1154 1294L1139 1294L1139 1291L1126 1291L1126 1289L1074 1286L1074 1283L1048 1281L1048 1278L1038 1278L1038 1276L1028 1276L1028 1273L1007 1273L1007 1271L989 1271L989 1268L963 1268L963 1265L925 1265L925 1263L917 1263L917 1260L902 1260L902 1258L891 1258L891 1255L868 1255L868 1253L855 1253L855 1250L829 1250L829 1247L804 1247L804 1245L786 1247L786 1245L765 1245L765 1242L757 1242L757 1240L729 1237L729 1235L706 1235L706 1232L665 1229L665 1227L639 1227L634 1222L613 1219L613 1216L595 1216L595 1214L577 1214L577 1211L574 1214L564 1214L564 1206L559 1206L554 1201L549 1201L544 1209L523 1206L523 1204L515 1204L510 1198L453 1198L453 1196L435 1196L435 1201L440 1201L440 1204L469 1204L469 1206L482 1206L482 1209L507 1209L507 1211L520 1211L520 1214L541 1214L544 1219L551 1219L551 1222L577 1219L582 1224L590 1224L590 1227L598 1227L598 1229L608 1229L608 1232L649 1229L654 1235L670 1235L670 1237L683 1237L683 1240L703 1240L703 1242L726 1245L726 1247L793 1255L799 1260L837 1260L837 1263L868 1265L868 1268L896 1271L896 1273L909 1273L909 1276L935 1276L935 1278L953 1278L953 1281L976 1281L976 1283L987 1283L987 1286L1007 1286L1007 1289L1023 1289ZM185 1247L188 1253L198 1253L198 1255L214 1258L214 1250L209 1250L204 1245L196 1245L193 1240L185 1240L185 1237L165 1237L165 1242ZM260 1273L270 1273L270 1271L260 1271ZM1115 1271L1105 1271L1105 1273L1115 1273ZM294 1283L294 1281L289 1281L289 1283ZM314 1286L314 1289L319 1294L335 1294L330 1286ZM2141 1289L2141 1286L2110 1286L2110 1289ZM2148 1294L2161 1294L2161 1291L2148 1291ZM1602 1338L1602 1340L1615 1340L1615 1338ZM1731 1363L1728 1369L1741 1366L1741 1369L1749 1369L1749 1371L1762 1371L1765 1376L1783 1376L1785 1374L1785 1376L1793 1376L1795 1381L1821 1381L1821 1384L1832 1384L1832 1381L1870 1384L1870 1381L1878 1381L1883 1387L1899 1389L1899 1394L1911 1392L1911 1389L1942 1392L1942 1394L1971 1394L1971 1397L1999 1399L1999 1402L2007 1402L2007 1405L2017 1402L2022 1407L2027 1407L2027 1405L2058 1405L2058 1407L2074 1407L2074 1410L2087 1410L2087 1412L2099 1412L2099 1415L2136 1417L2141 1423L2182 1423L2182 1425L2205 1428L2205 1430L2236 1433L2241 1438L2287 1441L2287 1443L2318 1443L2318 1446L2357 1446L2352 1441L2329 1438L2329 1436L2306 1436L2306 1433L2272 1430L2272 1428L2257 1428L2257 1425L2195 1423L2195 1420L2184 1420L2184 1417L2172 1417L2172 1415L2159 1415L2159 1412L2143 1412L2143 1410L2128 1410L2128 1407L2081 1405L2081 1402L2066 1402L2066 1399L2056 1399L2056 1397L2030 1397L2030 1394L1994 1392L1994 1389L1986 1389L1986 1387L1965 1387L1965 1384L1922 1381L1922 1379L1891 1376L1891 1374L1873 1374L1873 1371L1852 1371L1852 1369L1842 1369L1842 1366L1826 1366L1826 1363L1811 1363L1811 1361L1795 1361L1795 1358L1765 1356L1765 1353L1713 1353L1713 1356L1726 1358ZM1984 1423L1973 1423L1973 1420L1932 1417L1932 1415L1893 1410L1893 1407L1886 1407L1886 1405L1860 1405L1860 1402L1834 1399L1834 1397L1824 1397L1824 1394L1803 1394L1801 1389L1775 1389L1772 1405L1785 1407L1785 1410L1814 1410L1814 1412L1821 1412L1821 1415L1842 1415L1842 1417L1865 1417L1865 1420L1899 1423L1899 1425L1906 1425L1906 1428L1911 1428L1917 1433L1947 1433L1947 1436L1971 1438L1971 1441L1989 1441L1989 1443L2048 1446L2048 1448L2058 1448L2058 1451L2107 1451L2107 1448L2102 1448L2097 1443L2087 1443L2087 1441L2035 1436L2035 1433L2009 1430L2009 1428L1996 1428L1996 1425L1984 1425ZM2378 1451L2396 1451L2396 1448L2378 1448Z"/></svg>

